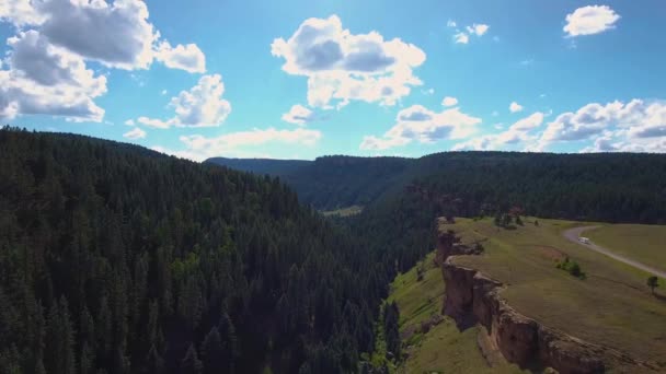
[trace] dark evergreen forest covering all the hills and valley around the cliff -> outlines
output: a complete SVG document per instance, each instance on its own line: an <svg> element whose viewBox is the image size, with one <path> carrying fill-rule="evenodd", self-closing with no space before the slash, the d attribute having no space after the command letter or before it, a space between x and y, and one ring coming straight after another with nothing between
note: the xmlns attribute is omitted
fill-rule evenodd
<svg viewBox="0 0 666 374"><path fill-rule="evenodd" d="M3 373L386 373L400 311L382 300L436 217L666 217L662 155L261 162L1 129ZM315 210L349 202L363 213Z"/></svg>

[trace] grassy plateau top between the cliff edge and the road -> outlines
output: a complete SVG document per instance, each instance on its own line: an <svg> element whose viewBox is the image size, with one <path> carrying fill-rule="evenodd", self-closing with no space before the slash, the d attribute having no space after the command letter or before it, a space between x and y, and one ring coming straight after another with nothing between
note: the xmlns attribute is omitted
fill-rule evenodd
<svg viewBox="0 0 666 374"><path fill-rule="evenodd" d="M508 231L492 220L459 220L448 227L463 243L484 239L485 255L456 262L508 284L503 296L509 304L547 326L666 365L666 293L652 296L647 273L563 238L561 232L576 223L532 222ZM563 256L577 261L587 280L556 269Z"/></svg>

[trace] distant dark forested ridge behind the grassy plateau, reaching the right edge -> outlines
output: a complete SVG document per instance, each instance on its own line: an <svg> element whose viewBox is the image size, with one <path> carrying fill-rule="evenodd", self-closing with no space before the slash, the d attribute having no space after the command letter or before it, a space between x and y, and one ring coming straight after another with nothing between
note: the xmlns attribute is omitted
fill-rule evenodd
<svg viewBox="0 0 666 374"><path fill-rule="evenodd" d="M544 218L666 223L663 154L326 156L289 173L273 174L292 186L301 201L321 210L374 204L415 189L432 199L459 198L459 213L468 217L517 206Z"/></svg>

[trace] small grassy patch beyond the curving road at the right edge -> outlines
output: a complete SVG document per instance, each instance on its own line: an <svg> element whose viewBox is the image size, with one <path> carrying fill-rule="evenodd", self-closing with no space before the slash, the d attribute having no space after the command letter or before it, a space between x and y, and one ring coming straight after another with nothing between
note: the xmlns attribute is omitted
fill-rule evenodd
<svg viewBox="0 0 666 374"><path fill-rule="evenodd" d="M584 235L617 254L666 271L665 226L609 224Z"/></svg>

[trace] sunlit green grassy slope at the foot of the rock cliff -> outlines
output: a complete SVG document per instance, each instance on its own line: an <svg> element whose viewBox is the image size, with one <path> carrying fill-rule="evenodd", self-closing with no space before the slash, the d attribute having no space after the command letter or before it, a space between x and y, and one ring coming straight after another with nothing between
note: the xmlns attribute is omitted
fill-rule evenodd
<svg viewBox="0 0 666 374"><path fill-rule="evenodd" d="M416 280L416 267L400 274L391 283L389 302L395 301L400 308L400 330L420 326L441 309L444 281L441 271L435 267L435 254L424 260L426 272L422 281ZM489 367L476 346L478 328L459 331L455 323L445 317L427 334L416 334L407 342L410 358L400 367L400 373L519 373L515 365L505 361Z"/></svg>

